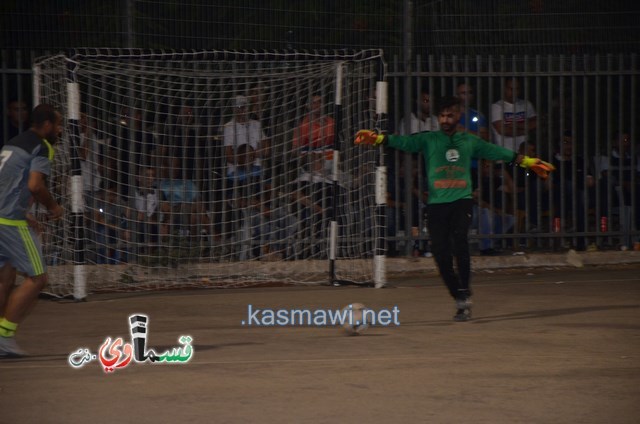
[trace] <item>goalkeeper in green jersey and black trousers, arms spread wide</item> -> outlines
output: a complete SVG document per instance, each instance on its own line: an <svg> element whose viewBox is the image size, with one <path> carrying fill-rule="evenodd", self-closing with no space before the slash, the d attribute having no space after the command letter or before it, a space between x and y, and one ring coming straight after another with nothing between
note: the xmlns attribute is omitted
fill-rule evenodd
<svg viewBox="0 0 640 424"><path fill-rule="evenodd" d="M473 208L471 160L489 159L511 162L530 168L541 178L547 178L554 168L537 158L522 156L514 151L462 131L460 101L444 97L438 103L440 130L408 136L378 134L360 130L356 144L381 145L409 153L421 152L429 188L427 226L431 246L440 275L456 302L456 321L471 318L471 258L467 234ZM456 259L457 273L453 268Z"/></svg>

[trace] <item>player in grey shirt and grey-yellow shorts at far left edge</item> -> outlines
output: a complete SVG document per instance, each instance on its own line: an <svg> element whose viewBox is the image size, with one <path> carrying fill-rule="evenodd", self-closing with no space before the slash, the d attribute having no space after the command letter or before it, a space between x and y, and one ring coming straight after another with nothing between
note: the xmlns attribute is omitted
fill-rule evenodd
<svg viewBox="0 0 640 424"><path fill-rule="evenodd" d="M61 133L62 115L42 104L33 110L31 128L0 150L0 358L25 355L15 342L16 330L47 283L42 246L27 211L37 202L49 219L62 217L46 186ZM14 285L16 270L25 275L20 286Z"/></svg>

